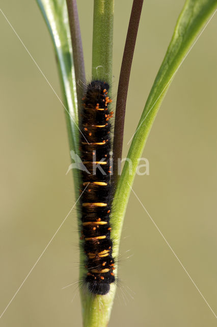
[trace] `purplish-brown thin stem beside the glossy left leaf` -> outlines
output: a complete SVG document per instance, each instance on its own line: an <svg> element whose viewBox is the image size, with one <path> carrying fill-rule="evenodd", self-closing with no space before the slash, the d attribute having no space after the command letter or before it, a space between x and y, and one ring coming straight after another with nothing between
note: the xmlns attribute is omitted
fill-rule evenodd
<svg viewBox="0 0 217 327"><path fill-rule="evenodd" d="M72 40L72 52L76 81L77 105L78 111L82 103L83 85L85 79L85 63L82 48L82 37L80 35L79 18L77 13L76 0L66 0L69 16L69 26Z"/></svg>

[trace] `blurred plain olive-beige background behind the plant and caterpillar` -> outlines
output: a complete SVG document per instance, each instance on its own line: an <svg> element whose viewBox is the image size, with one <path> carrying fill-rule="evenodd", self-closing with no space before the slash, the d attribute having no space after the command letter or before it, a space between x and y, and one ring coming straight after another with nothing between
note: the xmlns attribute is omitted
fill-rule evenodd
<svg viewBox="0 0 217 327"><path fill-rule="evenodd" d="M77 2L90 80L93 1ZM183 4L184 0L144 3L130 78L124 156ZM131 1L115 2L115 96L130 7ZM36 2L1 0L1 9L61 95L50 37ZM0 28L2 312L69 212L74 191L71 173L66 175L70 152L63 107L1 13ZM150 175L137 176L133 185L215 313L216 28L214 16L180 67L143 154ZM82 325L76 284L62 290L78 281L76 231L73 211L1 326ZM120 253L110 326L216 326L213 313L133 194Z"/></svg>

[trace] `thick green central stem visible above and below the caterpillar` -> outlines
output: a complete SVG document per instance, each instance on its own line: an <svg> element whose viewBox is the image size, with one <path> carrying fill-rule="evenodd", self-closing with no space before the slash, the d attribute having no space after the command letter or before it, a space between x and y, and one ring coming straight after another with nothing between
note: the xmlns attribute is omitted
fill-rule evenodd
<svg viewBox="0 0 217 327"><path fill-rule="evenodd" d="M112 82L113 18L114 0L94 1L92 79L101 79L108 83ZM84 277L82 267L80 276ZM87 289L80 289L84 327L107 326L115 289L116 286L112 285L106 296L93 296Z"/></svg>

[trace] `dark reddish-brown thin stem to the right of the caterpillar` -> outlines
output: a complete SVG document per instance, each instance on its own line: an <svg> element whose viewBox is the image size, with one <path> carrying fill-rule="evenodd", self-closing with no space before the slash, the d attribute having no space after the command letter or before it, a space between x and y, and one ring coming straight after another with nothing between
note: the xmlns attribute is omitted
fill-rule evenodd
<svg viewBox="0 0 217 327"><path fill-rule="evenodd" d="M132 58L135 48L135 41L137 39L137 32L139 28L140 16L144 0L133 0L131 15L129 19L129 26L124 47L123 59L121 64L121 72L118 84L118 95L115 112L115 130L114 130L114 169L113 179L115 184L118 179L118 159L122 157L123 134L124 134L124 119L127 100L127 91L129 85L129 76L132 65Z"/></svg>

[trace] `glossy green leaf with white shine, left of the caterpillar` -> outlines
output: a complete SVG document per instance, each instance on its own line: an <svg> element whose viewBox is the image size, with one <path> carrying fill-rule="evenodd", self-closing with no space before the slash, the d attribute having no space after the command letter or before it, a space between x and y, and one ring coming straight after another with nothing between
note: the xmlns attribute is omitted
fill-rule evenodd
<svg viewBox="0 0 217 327"><path fill-rule="evenodd" d="M65 116L68 130L69 146L78 153L78 113L76 84L72 60L71 37L65 0L36 0L49 30L55 49ZM75 189L78 190L78 178L73 171Z"/></svg>

